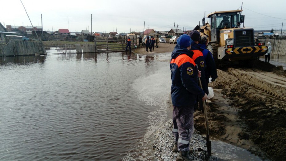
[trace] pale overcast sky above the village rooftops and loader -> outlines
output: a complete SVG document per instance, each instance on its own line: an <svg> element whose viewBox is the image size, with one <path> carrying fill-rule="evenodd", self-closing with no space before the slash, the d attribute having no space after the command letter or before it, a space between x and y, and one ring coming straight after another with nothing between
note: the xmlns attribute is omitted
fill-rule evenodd
<svg viewBox="0 0 286 161"><path fill-rule="evenodd" d="M241 9L242 1L232 0L22 0L33 26L43 30L70 32L129 33L145 30L193 30L202 18L214 11ZM20 0L1 0L3 26L31 26ZM248 0L243 2L244 26L254 30L286 29L286 0ZM92 20L91 20L92 15ZM92 24L92 28L91 28Z"/></svg>

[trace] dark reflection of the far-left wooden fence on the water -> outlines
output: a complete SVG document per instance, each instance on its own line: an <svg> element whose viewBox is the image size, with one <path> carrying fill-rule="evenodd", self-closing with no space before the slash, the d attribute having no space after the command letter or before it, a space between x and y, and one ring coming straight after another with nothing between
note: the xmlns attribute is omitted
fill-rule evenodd
<svg viewBox="0 0 286 161"><path fill-rule="evenodd" d="M13 56L13 57L1 57L0 65L7 63L26 64L26 63L43 63L46 60L46 55L30 55L30 56Z"/></svg>

